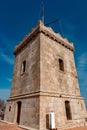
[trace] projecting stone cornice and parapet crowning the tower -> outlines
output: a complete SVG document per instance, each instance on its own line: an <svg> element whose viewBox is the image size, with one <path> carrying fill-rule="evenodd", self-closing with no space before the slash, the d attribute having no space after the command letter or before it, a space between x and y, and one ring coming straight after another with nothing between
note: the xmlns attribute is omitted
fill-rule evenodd
<svg viewBox="0 0 87 130"><path fill-rule="evenodd" d="M40 21L36 28L32 29L32 31L27 35L24 40L19 43L14 50L14 54L19 53L23 48L25 48L31 40L33 40L39 33L43 33L47 37L61 44L62 46L74 51L74 46L67 39L62 38L60 34L55 33L51 28L44 26L44 24Z"/></svg>

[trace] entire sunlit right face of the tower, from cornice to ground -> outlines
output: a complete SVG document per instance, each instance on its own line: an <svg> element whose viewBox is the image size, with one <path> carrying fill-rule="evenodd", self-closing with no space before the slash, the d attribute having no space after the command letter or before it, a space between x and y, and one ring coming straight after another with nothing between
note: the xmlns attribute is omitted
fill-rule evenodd
<svg viewBox="0 0 87 130"><path fill-rule="evenodd" d="M64 71L59 61L64 62ZM46 115L55 113L56 127L84 122L86 109L80 90L73 51L40 34L40 130L46 129ZM70 102L72 120L67 120L65 101ZM44 114L43 114L44 113Z"/></svg>

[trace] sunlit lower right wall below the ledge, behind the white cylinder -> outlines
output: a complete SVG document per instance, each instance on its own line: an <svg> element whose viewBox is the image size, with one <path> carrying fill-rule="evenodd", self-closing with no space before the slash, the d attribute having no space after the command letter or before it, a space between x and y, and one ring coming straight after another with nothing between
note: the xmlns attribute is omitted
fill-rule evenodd
<svg viewBox="0 0 87 130"><path fill-rule="evenodd" d="M65 111L65 101L70 102L72 120L67 120ZM78 102L79 101L79 102ZM41 96L40 97L40 130L49 129L49 121L46 118L51 111L55 114L55 126L56 128L62 128L62 126L67 127L71 123L71 127L83 124L85 122L85 107L81 107L81 102L84 103L83 99L77 98L65 98L65 97L53 97ZM84 106L84 105L83 105Z"/></svg>

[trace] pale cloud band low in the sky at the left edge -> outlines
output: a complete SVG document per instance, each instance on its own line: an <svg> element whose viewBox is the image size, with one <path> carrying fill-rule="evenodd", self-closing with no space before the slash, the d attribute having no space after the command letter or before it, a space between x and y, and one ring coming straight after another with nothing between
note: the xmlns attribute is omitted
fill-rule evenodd
<svg viewBox="0 0 87 130"><path fill-rule="evenodd" d="M10 96L10 89L0 89L0 99L7 100Z"/></svg>

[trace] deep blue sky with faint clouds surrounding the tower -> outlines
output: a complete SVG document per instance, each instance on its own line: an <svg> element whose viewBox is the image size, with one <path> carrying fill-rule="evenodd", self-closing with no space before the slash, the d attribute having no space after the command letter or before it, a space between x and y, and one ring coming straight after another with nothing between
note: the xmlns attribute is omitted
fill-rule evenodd
<svg viewBox="0 0 87 130"><path fill-rule="evenodd" d="M64 37L74 43L81 95L87 102L87 0L44 0L45 23L59 18ZM0 98L10 94L14 47L41 19L41 0L0 1ZM51 25L60 31L59 23Z"/></svg>

